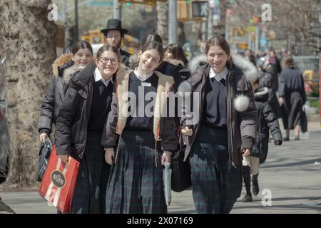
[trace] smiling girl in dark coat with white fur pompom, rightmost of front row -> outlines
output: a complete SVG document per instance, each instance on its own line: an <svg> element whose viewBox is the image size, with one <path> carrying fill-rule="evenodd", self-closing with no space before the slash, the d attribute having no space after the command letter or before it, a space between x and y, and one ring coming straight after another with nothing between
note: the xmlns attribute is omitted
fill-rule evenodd
<svg viewBox="0 0 321 228"><path fill-rule="evenodd" d="M225 39L210 38L205 54L208 63L188 79L199 93L194 112L200 120L188 125L193 115L181 118L185 160L189 156L196 212L229 213L242 190L242 155L250 155L255 142L256 108Z"/></svg>

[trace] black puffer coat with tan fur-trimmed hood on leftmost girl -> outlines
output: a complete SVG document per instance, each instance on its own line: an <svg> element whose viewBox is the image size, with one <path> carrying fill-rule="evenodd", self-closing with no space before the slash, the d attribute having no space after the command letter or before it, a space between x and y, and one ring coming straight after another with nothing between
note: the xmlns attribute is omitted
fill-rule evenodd
<svg viewBox="0 0 321 228"><path fill-rule="evenodd" d="M39 133L51 134L52 125L56 124L58 112L61 109L63 98L67 90L67 83L78 71L70 54L65 54L56 59L53 64L54 75L46 90L46 95L41 104L39 116Z"/></svg>

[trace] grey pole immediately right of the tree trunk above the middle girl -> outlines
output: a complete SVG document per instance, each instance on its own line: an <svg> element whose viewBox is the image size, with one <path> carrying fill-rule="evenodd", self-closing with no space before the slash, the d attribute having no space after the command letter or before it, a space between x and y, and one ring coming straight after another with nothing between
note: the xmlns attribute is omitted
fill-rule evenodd
<svg viewBox="0 0 321 228"><path fill-rule="evenodd" d="M168 43L178 43L177 1L168 0Z"/></svg>

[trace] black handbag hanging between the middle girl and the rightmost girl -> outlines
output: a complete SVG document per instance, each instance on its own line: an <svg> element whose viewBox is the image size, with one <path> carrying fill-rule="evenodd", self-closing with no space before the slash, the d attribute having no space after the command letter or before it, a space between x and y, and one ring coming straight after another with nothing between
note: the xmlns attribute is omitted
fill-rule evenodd
<svg viewBox="0 0 321 228"><path fill-rule="evenodd" d="M180 145L180 150L175 152L172 157L171 186L174 192L182 192L192 186L190 160L187 159L184 162L184 155L185 147Z"/></svg>

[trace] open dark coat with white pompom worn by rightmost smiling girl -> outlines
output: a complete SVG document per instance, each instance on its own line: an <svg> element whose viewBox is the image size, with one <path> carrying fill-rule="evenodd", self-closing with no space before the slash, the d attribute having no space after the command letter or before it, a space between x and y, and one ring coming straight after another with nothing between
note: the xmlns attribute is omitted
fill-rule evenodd
<svg viewBox="0 0 321 228"><path fill-rule="evenodd" d="M243 160L241 150L248 148L252 150L256 135L256 115L257 110L254 103L253 90L250 82L240 68L235 65L229 67L230 72L226 78L227 102L228 102L228 152L232 165L240 165ZM206 64L200 66L195 73L190 76L188 82L192 86L192 94L198 93L198 111L192 113L190 109L184 109L181 118L181 127L188 125L193 129L192 136L182 135L186 142L185 157L188 158L193 142L198 135L200 121L193 125L188 124L188 120L193 119L193 115L198 115L202 119L203 105L205 100L205 77L210 73L210 66ZM193 96L193 95L192 95ZM192 98L193 99L193 98Z"/></svg>

